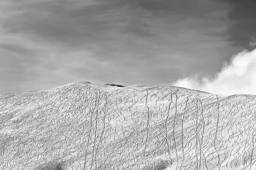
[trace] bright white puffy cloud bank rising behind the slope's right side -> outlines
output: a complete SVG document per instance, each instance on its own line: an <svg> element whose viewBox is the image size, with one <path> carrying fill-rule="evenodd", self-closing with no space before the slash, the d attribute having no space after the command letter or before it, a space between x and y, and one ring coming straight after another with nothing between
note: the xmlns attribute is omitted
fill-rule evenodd
<svg viewBox="0 0 256 170"><path fill-rule="evenodd" d="M186 77L178 79L174 86L206 91L212 94L254 94L256 95L256 48L241 51L230 62L224 62L215 77Z"/></svg>

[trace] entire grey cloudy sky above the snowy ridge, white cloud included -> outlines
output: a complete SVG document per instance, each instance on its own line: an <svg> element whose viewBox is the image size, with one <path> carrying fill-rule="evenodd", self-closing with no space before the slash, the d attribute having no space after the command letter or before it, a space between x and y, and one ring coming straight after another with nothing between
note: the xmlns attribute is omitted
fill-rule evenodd
<svg viewBox="0 0 256 170"><path fill-rule="evenodd" d="M256 76L255 6L252 0L0 0L0 94L79 81L256 94L256 80L249 81Z"/></svg>

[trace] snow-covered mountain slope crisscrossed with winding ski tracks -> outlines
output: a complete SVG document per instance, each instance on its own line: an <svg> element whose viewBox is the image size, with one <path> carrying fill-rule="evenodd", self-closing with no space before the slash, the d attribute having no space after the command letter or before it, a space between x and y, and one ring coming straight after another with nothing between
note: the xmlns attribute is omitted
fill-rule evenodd
<svg viewBox="0 0 256 170"><path fill-rule="evenodd" d="M74 82L0 95L0 170L256 170L256 96Z"/></svg>

